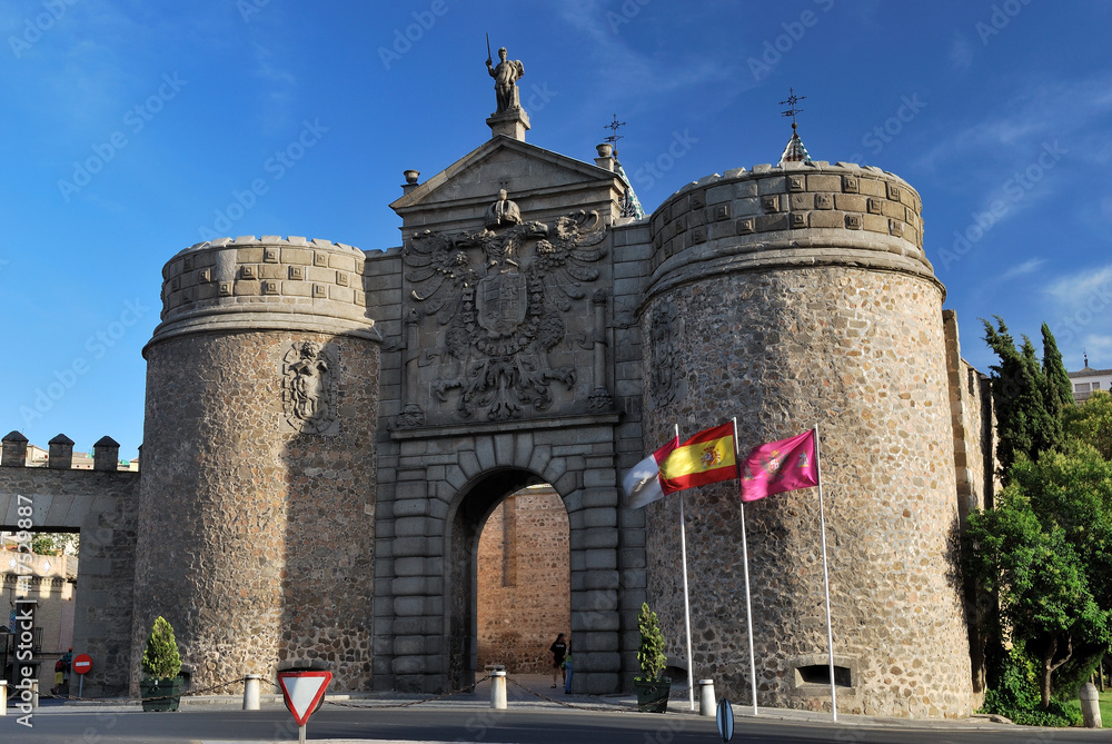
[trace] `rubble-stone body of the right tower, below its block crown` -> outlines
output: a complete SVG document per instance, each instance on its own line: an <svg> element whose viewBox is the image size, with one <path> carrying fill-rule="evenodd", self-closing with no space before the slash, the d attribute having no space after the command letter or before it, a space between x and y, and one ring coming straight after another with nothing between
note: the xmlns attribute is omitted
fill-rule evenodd
<svg viewBox="0 0 1112 744"><path fill-rule="evenodd" d="M806 302L794 300L801 291ZM707 281L669 299L685 318L687 395L654 416L657 440L671 421L687 436L737 416L747 452L821 426L835 663L853 672L842 710L969 714L936 289L825 269ZM696 674L746 700L736 485L684 497ZM675 499L648 508L649 596L668 628L671 663L685 667L678 509ZM828 705L828 688L796 676L826 663L817 493L776 495L745 516L759 702Z"/></svg>

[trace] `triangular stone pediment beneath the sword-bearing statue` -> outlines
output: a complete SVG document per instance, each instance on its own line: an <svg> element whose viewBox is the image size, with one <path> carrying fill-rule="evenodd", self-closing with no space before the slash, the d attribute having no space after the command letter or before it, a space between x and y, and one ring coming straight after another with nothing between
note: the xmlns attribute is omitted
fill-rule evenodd
<svg viewBox="0 0 1112 744"><path fill-rule="evenodd" d="M624 185L605 168L496 136L410 188L390 208L403 217L403 229L461 229L481 220L499 189L506 189L527 219L539 219L575 209L607 216Z"/></svg>

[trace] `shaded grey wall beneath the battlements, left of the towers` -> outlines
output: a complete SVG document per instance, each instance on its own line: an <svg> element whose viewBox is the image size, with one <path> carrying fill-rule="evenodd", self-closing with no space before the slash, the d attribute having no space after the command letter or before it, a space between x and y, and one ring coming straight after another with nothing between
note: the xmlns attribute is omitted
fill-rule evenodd
<svg viewBox="0 0 1112 744"><path fill-rule="evenodd" d="M31 499L36 529L80 530L73 649L93 658L85 694L126 694L131 666L139 474L0 467L4 529L12 530L18 524L19 496Z"/></svg>

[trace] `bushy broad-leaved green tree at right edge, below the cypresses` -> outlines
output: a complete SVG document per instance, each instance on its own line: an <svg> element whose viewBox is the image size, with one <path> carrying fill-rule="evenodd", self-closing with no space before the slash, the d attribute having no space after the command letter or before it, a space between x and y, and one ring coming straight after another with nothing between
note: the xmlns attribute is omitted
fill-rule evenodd
<svg viewBox="0 0 1112 744"><path fill-rule="evenodd" d="M1068 449L1021 454L996 508L969 522L973 572L1037 662L1044 711L1054 673L1112 642L1112 464L1084 444Z"/></svg>

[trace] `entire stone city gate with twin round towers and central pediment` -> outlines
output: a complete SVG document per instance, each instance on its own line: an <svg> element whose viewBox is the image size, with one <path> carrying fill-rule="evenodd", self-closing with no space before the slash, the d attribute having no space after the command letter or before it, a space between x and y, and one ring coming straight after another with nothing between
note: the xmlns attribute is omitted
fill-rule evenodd
<svg viewBox="0 0 1112 744"><path fill-rule="evenodd" d="M685 496L694 669L677 504L624 508L618 486L674 427L736 416L743 452L824 433L840 701L967 714L960 535L992 488L991 409L943 320L915 190L812 161L793 135L780 163L646 218L609 146L592 163L527 143L519 108L488 123L435 176L406 172L399 247L248 236L166 265L116 629L132 687L159 614L196 687L318 659L337 690L466 686L478 535L547 483L568 517L576 691L629 688L647 601L669 665L745 701L736 485ZM828 705L814 498L747 508L758 702Z"/></svg>

